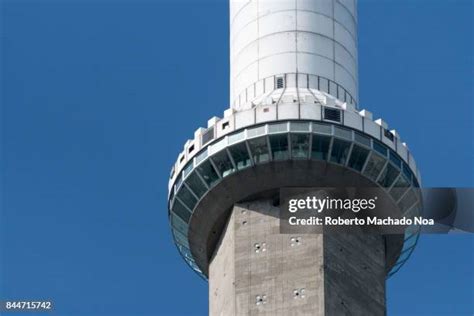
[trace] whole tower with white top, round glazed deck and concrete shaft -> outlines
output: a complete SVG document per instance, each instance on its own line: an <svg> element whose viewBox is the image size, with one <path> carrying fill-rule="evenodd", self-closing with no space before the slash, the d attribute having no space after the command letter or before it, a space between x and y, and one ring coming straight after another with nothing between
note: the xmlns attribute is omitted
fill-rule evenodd
<svg viewBox="0 0 474 316"><path fill-rule="evenodd" d="M185 143L168 195L211 315L385 314L416 227L280 234L273 203L283 187L372 186L403 214L421 209L407 145L358 105L357 19L356 0L230 0L230 108Z"/></svg>

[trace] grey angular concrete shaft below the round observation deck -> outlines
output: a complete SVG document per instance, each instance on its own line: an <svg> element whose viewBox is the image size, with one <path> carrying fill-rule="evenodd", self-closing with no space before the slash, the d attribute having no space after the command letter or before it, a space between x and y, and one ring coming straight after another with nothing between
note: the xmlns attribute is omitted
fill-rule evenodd
<svg viewBox="0 0 474 316"><path fill-rule="evenodd" d="M279 232L271 200L233 207L209 266L209 313L385 315L380 235Z"/></svg>

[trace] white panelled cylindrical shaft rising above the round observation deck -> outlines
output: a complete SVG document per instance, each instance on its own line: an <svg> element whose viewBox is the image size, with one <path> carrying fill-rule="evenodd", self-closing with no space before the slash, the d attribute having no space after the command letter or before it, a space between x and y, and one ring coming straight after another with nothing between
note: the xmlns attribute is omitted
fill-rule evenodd
<svg viewBox="0 0 474 316"><path fill-rule="evenodd" d="M269 89L281 88L281 77L357 103L356 2L230 0L232 107L252 106Z"/></svg>

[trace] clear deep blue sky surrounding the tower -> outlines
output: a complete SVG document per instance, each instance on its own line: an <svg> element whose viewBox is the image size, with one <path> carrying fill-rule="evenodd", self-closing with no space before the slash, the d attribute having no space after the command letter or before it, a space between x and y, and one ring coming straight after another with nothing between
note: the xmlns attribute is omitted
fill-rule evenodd
<svg viewBox="0 0 474 316"><path fill-rule="evenodd" d="M226 0L1 4L0 299L205 315L166 193L183 143L228 106ZM472 187L472 0L360 0L359 18L361 107L397 128L425 186ZM389 315L472 315L473 246L422 236Z"/></svg>

